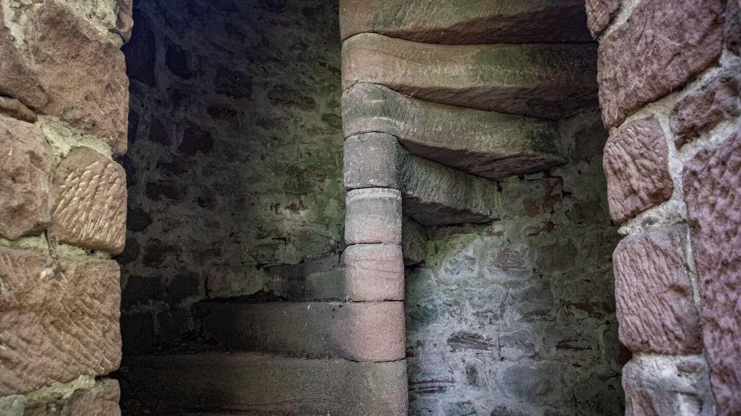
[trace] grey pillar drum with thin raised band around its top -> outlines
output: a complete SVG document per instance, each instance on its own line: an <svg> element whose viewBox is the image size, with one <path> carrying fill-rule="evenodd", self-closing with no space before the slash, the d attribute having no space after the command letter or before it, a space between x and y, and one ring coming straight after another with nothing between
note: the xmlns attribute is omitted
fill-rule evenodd
<svg viewBox="0 0 741 416"><path fill-rule="evenodd" d="M352 189L346 198L345 243L402 242L402 192L388 188Z"/></svg>

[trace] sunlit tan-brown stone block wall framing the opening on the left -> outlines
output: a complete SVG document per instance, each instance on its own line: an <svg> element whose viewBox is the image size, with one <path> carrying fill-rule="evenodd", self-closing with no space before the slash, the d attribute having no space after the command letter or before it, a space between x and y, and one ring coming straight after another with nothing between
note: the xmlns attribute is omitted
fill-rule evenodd
<svg viewBox="0 0 741 416"><path fill-rule="evenodd" d="M0 5L0 414L119 415L127 1Z"/></svg>

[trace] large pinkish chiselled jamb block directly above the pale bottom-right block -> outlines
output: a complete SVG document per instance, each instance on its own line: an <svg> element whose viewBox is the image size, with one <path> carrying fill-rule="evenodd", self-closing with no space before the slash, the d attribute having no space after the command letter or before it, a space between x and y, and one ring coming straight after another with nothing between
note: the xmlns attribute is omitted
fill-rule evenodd
<svg viewBox="0 0 741 416"><path fill-rule="evenodd" d="M686 253L687 227L620 241L613 255L620 340L633 352L699 354L700 318Z"/></svg>

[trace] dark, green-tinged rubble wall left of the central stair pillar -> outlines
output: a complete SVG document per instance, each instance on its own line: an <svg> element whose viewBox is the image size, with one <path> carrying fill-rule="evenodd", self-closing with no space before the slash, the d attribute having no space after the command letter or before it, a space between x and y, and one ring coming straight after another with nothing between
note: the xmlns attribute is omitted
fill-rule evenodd
<svg viewBox="0 0 741 416"><path fill-rule="evenodd" d="M142 0L134 20L124 352L206 348L200 302L269 300L271 266L339 261L336 4Z"/></svg>

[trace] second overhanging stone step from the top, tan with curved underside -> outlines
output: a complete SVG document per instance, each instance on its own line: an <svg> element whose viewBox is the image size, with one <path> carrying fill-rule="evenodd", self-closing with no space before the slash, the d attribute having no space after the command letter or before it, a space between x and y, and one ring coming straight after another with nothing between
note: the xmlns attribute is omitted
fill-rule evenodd
<svg viewBox="0 0 741 416"><path fill-rule="evenodd" d="M441 104L564 118L597 106L597 44L442 45L361 33L342 44L342 87L359 82Z"/></svg>

